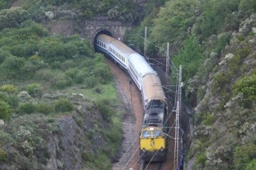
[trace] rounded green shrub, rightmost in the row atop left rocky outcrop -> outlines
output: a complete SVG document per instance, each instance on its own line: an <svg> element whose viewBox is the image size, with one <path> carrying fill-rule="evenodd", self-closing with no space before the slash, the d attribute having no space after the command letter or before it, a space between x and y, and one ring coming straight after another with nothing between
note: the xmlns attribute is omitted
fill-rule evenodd
<svg viewBox="0 0 256 170"><path fill-rule="evenodd" d="M72 111L74 109L69 99L59 99L54 102L54 108L57 112Z"/></svg>

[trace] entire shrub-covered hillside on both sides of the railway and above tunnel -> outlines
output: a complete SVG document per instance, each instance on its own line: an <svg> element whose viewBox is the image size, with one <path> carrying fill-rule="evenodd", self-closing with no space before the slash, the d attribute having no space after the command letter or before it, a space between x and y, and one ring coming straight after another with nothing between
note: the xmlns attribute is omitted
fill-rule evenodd
<svg viewBox="0 0 256 170"><path fill-rule="evenodd" d="M138 25L126 41L140 51L147 26L150 58L170 42L187 169L255 168L256 1L136 2L0 0L0 169L111 168L124 110L103 55L73 35L100 15Z"/></svg>

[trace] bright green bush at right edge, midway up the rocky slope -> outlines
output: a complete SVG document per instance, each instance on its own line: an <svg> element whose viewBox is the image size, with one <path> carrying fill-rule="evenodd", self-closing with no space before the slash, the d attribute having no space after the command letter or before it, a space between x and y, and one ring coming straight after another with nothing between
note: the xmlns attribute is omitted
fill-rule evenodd
<svg viewBox="0 0 256 170"><path fill-rule="evenodd" d="M242 94L242 103L249 107L256 99L256 75L239 79L232 87L233 95Z"/></svg>

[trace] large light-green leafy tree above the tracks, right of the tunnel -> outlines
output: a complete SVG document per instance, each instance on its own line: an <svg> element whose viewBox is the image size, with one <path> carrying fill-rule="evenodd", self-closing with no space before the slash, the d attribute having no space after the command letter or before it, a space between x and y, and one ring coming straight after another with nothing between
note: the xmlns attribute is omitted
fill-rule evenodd
<svg viewBox="0 0 256 170"><path fill-rule="evenodd" d="M182 47L189 35L188 30L200 14L200 2L197 0L173 0L166 2L161 8L154 22L151 39L156 44L166 48L166 42L170 42L174 52Z"/></svg>

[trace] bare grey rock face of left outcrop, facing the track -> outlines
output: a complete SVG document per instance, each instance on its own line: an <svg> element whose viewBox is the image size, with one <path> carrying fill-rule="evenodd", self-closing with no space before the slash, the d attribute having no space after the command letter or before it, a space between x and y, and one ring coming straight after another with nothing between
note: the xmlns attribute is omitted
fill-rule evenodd
<svg viewBox="0 0 256 170"><path fill-rule="evenodd" d="M51 158L47 164L49 169L82 169L83 152L98 152L106 145L106 139L99 132L90 133L98 126L93 123L95 120L98 120L102 127L107 128L107 123L98 109L93 107L92 112L89 112L84 104L85 100L80 95L73 96L72 101L75 101L77 113L60 119L61 132L49 136L48 147L51 150ZM90 137L87 137L89 133Z"/></svg>

